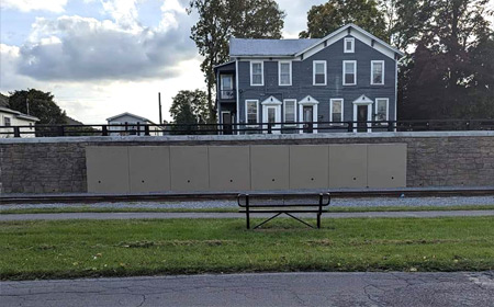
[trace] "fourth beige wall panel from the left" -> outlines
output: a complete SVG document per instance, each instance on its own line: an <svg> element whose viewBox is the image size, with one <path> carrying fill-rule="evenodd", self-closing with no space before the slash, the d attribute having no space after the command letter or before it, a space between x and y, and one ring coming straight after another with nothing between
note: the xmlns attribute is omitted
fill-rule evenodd
<svg viewBox="0 0 494 307"><path fill-rule="evenodd" d="M210 146L210 190L250 190L248 146Z"/></svg>

